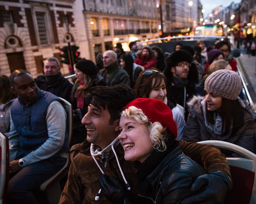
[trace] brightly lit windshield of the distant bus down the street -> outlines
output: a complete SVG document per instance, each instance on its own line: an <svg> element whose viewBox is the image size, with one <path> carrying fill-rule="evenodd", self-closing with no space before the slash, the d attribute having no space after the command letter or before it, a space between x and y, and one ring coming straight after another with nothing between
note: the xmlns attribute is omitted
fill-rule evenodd
<svg viewBox="0 0 256 204"><path fill-rule="evenodd" d="M222 26L216 24L195 27L195 35L223 36Z"/></svg>

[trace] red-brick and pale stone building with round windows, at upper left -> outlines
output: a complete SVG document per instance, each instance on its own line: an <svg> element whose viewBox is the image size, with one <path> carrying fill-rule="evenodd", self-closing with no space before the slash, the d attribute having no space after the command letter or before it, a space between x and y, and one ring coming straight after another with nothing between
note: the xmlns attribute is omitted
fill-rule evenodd
<svg viewBox="0 0 256 204"><path fill-rule="evenodd" d="M0 74L26 69L34 77L43 72L43 60L56 57L59 48L78 39L74 0L0 1ZM67 65L61 72L68 74Z"/></svg>

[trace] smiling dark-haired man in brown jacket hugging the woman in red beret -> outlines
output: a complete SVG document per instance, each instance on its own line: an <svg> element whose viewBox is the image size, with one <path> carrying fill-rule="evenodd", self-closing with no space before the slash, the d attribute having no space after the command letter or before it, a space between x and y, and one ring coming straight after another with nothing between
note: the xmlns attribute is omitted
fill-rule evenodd
<svg viewBox="0 0 256 204"><path fill-rule="evenodd" d="M100 189L99 176L102 173L124 181L127 187L131 187L131 195L136 200L138 181L134 162L125 161L120 144L112 145L116 143L119 135L120 112L135 98L134 90L127 85L98 86L89 90L85 99L89 104L88 112L82 119L82 123L87 128L87 139L81 144L74 145L70 150L71 165L60 204L111 203L101 193L97 194ZM183 153L201 164L209 173L202 178L198 177L194 184L198 187L208 183L207 187L200 191L200 194L187 198L184 203L196 203L196 201L214 203L222 200L227 190L232 187L225 156L212 145L194 142L180 142L179 145ZM95 198L98 200L96 201Z"/></svg>

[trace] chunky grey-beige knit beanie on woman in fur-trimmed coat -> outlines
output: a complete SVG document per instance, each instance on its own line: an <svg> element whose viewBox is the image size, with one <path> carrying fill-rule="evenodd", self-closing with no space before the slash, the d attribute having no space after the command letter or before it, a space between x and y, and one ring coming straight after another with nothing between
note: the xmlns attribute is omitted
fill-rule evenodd
<svg viewBox="0 0 256 204"><path fill-rule="evenodd" d="M225 99L236 100L242 84L238 74L234 71L221 69L213 72L204 82L204 89Z"/></svg>

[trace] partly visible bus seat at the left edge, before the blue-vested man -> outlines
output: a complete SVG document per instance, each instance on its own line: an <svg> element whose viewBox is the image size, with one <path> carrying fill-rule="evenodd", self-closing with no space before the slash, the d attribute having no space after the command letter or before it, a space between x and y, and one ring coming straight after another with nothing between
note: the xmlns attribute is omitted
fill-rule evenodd
<svg viewBox="0 0 256 204"><path fill-rule="evenodd" d="M9 139L2 132L0 132L0 155L0 204L5 204L9 182Z"/></svg>

